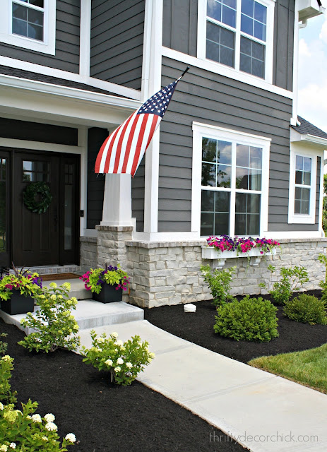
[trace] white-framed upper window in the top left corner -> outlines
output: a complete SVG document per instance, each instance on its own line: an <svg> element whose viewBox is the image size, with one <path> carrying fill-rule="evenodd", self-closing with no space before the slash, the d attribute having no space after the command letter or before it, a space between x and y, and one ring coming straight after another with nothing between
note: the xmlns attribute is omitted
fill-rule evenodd
<svg viewBox="0 0 327 452"><path fill-rule="evenodd" d="M55 0L2 0L0 41L47 54L55 53Z"/></svg>

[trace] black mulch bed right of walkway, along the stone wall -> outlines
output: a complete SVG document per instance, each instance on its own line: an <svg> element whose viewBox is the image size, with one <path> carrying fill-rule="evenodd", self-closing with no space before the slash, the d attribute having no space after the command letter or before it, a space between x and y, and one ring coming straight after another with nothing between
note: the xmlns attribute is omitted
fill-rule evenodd
<svg viewBox="0 0 327 452"><path fill-rule="evenodd" d="M307 292L309 295L321 295L321 291ZM239 297L238 297L239 298ZM269 296L266 297L269 299ZM145 309L145 319L165 331L189 340L192 343L237 359L249 362L250 359L278 355L279 353L297 352L327 343L326 325L309 325L287 319L283 308L278 307L279 337L268 343L254 343L245 340L223 338L213 331L215 324L215 307L211 301L197 302L196 313L184 313L184 305L163 306Z"/></svg>

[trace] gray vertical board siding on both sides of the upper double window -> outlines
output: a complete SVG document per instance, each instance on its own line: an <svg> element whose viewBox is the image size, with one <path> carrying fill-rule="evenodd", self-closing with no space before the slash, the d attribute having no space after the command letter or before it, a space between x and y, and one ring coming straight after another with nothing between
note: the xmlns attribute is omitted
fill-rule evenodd
<svg viewBox="0 0 327 452"><path fill-rule="evenodd" d="M273 84L292 90L295 0L276 0ZM196 57L198 0L163 0L162 44ZM219 69L218 69L219 70Z"/></svg>

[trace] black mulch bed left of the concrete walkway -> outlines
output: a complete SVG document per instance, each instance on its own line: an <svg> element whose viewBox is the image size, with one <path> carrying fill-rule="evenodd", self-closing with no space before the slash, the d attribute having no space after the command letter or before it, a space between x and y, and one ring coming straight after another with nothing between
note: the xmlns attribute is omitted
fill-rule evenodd
<svg viewBox="0 0 327 452"><path fill-rule="evenodd" d="M74 433L80 441L69 447L71 451L245 451L218 429L138 381L114 386L107 374L83 364L81 356L73 352L30 353L17 345L23 333L0 319L1 332L8 333L7 353L15 359L11 387L18 391L18 403L30 398L39 403L40 415L53 413L59 434Z"/></svg>

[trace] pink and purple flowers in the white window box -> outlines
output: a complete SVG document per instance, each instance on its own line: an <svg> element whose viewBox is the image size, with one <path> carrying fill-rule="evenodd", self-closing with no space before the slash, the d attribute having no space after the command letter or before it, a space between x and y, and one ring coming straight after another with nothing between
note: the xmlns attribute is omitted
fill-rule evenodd
<svg viewBox="0 0 327 452"><path fill-rule="evenodd" d="M237 254L246 254L251 249L258 249L260 254L267 254L276 246L280 246L278 242L273 239L262 239L253 237L230 237L229 235L222 235L220 237L209 237L207 239L208 246L213 246L219 253L222 251L237 251Z"/></svg>

